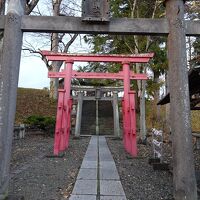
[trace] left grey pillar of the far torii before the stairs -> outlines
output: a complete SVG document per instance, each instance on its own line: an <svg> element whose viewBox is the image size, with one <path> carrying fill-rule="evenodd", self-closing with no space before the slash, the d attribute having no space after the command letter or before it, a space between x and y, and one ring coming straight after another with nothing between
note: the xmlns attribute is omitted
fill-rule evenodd
<svg viewBox="0 0 200 200"><path fill-rule="evenodd" d="M80 137L80 132L81 132L82 107L83 107L83 92L79 92L77 112L76 112L76 127L75 127L75 137L77 138Z"/></svg>

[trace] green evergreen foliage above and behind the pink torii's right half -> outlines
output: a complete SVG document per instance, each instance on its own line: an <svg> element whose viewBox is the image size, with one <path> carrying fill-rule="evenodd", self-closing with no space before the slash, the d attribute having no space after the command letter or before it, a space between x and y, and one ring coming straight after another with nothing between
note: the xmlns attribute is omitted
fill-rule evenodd
<svg viewBox="0 0 200 200"><path fill-rule="evenodd" d="M129 0L129 1L119 1L111 0L111 17L114 18L159 18L164 15L163 4L160 4L159 1L153 0ZM146 36L130 36L130 35L87 35L85 36L85 42L90 44L93 47L92 53L98 54L134 54L134 53L146 53L153 51L155 52L154 61L151 63L152 67L148 67L148 70L151 70L155 79L159 78L161 74L164 73L166 67L166 48L161 48L160 46L165 43L164 38L160 37L146 37ZM159 63L159 56L162 56ZM163 62L163 59L165 61ZM164 65L162 65L164 63ZM107 71L118 71L120 67L118 65L106 64L104 70ZM102 65L91 64L88 68L95 69L100 71ZM134 70L137 72L145 72L145 67L140 67L136 69L136 66L133 66ZM134 84L133 84L134 85ZM152 85L151 85L152 86ZM136 86L134 86L136 87ZM155 87L156 90L157 87ZM149 90L148 90L149 91ZM151 90L152 91L152 90ZM153 94L153 93L151 93Z"/></svg>

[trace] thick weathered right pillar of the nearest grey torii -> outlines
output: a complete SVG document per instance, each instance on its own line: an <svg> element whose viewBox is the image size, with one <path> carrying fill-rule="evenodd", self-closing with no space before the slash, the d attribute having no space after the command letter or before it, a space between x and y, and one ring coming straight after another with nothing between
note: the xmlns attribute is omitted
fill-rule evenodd
<svg viewBox="0 0 200 200"><path fill-rule="evenodd" d="M197 200L186 61L184 1L167 0L173 186L176 200Z"/></svg>

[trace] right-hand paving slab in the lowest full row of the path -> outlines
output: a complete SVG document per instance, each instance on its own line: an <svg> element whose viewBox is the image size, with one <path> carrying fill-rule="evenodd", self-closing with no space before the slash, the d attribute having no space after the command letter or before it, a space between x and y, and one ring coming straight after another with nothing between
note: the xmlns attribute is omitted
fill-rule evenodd
<svg viewBox="0 0 200 200"><path fill-rule="evenodd" d="M100 195L125 196L120 181L100 180Z"/></svg>

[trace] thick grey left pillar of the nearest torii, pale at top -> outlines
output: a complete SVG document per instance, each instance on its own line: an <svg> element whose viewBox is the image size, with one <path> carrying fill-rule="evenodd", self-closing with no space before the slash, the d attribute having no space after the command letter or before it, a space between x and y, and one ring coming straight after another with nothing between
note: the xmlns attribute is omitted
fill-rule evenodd
<svg viewBox="0 0 200 200"><path fill-rule="evenodd" d="M0 199L8 193L13 125L19 77L21 46L21 16L24 0L10 0L5 21L3 54L0 66Z"/></svg>

